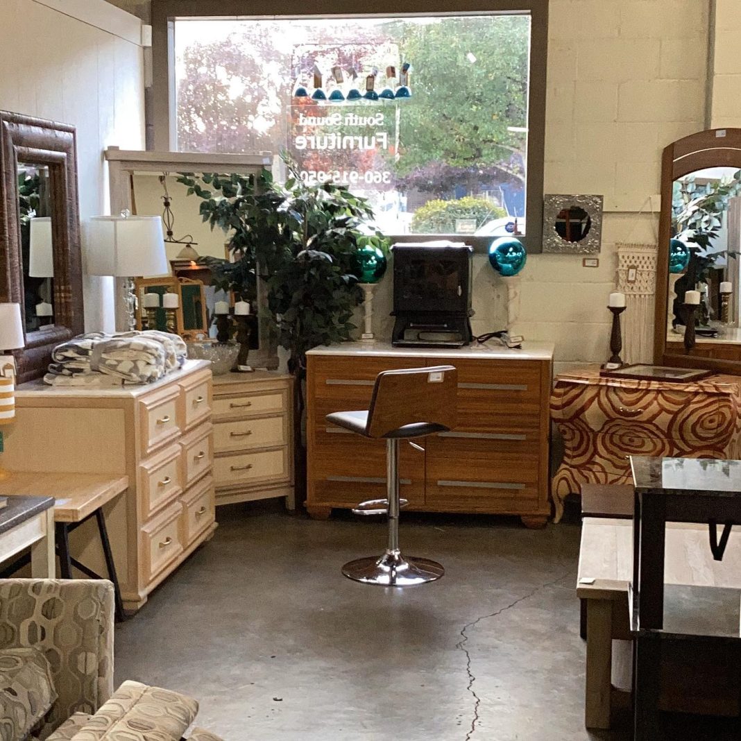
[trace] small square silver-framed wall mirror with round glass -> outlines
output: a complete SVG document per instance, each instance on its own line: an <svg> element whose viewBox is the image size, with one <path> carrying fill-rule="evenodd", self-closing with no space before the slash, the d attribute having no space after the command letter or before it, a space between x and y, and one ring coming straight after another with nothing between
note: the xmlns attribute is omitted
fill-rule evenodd
<svg viewBox="0 0 741 741"><path fill-rule="evenodd" d="M602 246L602 196L545 196L543 252L596 254Z"/></svg>

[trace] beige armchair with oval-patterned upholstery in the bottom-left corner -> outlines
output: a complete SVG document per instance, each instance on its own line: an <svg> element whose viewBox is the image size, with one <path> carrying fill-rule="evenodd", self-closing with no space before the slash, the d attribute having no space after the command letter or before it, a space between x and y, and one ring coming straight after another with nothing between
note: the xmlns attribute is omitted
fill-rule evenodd
<svg viewBox="0 0 741 741"><path fill-rule="evenodd" d="M179 741L198 712L159 687L112 690L110 582L0 581L0 741ZM220 741L199 728L190 740Z"/></svg>

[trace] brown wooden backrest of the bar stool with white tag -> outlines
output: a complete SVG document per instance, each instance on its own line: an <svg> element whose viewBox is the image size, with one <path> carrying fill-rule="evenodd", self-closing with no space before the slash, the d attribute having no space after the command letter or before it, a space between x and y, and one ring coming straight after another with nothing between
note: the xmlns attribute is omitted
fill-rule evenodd
<svg viewBox="0 0 741 741"><path fill-rule="evenodd" d="M382 371L373 386L368 435L383 437L405 425L458 423L458 371L452 365Z"/></svg>

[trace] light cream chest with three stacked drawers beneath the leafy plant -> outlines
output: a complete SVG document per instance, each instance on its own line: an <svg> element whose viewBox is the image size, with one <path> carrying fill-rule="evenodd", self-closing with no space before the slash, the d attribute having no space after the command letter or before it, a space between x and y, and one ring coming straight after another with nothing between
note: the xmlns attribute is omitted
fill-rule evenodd
<svg viewBox="0 0 741 741"><path fill-rule="evenodd" d="M277 371L213 379L216 504L293 494L292 377Z"/></svg>

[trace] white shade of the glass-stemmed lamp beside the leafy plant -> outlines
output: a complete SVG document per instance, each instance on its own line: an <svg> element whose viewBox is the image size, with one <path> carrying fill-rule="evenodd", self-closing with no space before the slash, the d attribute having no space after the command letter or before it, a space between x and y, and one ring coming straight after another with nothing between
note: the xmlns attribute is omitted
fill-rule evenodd
<svg viewBox="0 0 741 741"><path fill-rule="evenodd" d="M93 216L87 231L87 272L154 277L170 273L160 216Z"/></svg>

